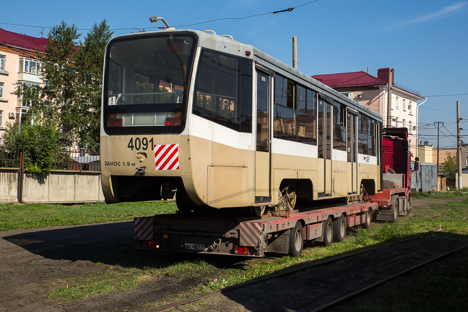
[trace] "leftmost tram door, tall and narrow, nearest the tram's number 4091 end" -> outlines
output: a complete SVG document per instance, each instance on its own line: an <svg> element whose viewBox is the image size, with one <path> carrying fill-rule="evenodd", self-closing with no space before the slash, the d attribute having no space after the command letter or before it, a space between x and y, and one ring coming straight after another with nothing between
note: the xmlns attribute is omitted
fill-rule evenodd
<svg viewBox="0 0 468 312"><path fill-rule="evenodd" d="M272 77L257 71L255 142L255 206L272 201L270 110Z"/></svg>

